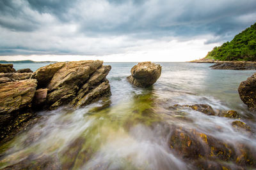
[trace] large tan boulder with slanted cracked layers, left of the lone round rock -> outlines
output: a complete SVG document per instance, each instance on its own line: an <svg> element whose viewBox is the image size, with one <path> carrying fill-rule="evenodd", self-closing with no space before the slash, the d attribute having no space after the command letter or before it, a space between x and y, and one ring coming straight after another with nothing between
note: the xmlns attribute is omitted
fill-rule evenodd
<svg viewBox="0 0 256 170"><path fill-rule="evenodd" d="M106 76L111 66L102 64L100 60L57 62L36 70L31 78L38 80L39 88L48 89L49 109L65 104L83 106L110 94Z"/></svg>

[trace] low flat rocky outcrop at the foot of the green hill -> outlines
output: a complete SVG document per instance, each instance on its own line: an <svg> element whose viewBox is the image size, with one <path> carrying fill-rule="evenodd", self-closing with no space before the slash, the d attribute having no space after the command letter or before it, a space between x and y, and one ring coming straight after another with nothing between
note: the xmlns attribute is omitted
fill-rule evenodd
<svg viewBox="0 0 256 170"><path fill-rule="evenodd" d="M246 61L219 61L213 66L212 69L256 69L256 62L246 62Z"/></svg>

